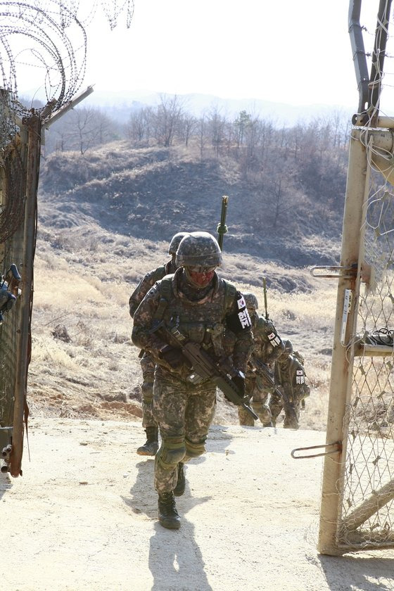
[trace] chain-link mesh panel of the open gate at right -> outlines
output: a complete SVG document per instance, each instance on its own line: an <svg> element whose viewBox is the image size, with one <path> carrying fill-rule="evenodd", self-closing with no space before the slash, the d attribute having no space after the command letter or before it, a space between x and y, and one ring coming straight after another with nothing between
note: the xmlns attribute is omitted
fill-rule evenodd
<svg viewBox="0 0 394 591"><path fill-rule="evenodd" d="M355 357L345 414L338 545L347 549L394 545L394 193L379 174L371 180L365 226L364 260L374 277L361 288L355 336L369 354Z"/></svg>

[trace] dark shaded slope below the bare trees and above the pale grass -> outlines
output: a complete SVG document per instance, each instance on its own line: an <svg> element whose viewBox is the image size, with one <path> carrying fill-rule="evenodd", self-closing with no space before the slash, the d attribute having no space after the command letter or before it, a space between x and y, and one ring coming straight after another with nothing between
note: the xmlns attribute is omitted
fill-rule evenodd
<svg viewBox="0 0 394 591"><path fill-rule="evenodd" d="M88 151L53 153L42 163L46 227L94 222L124 236L168 241L177 231L216 234L229 195L224 248L291 267L333 265L342 211L298 191L281 205L276 227L269 191L243 179L231 160L203 162L184 148L131 148L117 141ZM293 201L291 201L293 199Z"/></svg>

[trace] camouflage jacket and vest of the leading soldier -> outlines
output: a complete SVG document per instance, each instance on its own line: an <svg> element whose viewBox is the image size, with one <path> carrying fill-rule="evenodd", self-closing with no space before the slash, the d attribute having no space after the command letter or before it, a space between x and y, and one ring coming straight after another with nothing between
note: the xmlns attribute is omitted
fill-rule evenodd
<svg viewBox="0 0 394 591"><path fill-rule="evenodd" d="M205 289L203 298L190 300L182 291L183 269L177 269L158 281L146 294L134 314L132 341L139 348L151 352L160 363L161 369L186 380L190 369L182 366L179 370L164 367L158 359L158 352L164 345L174 345L168 330L176 327L188 341L199 343L215 358L225 357L224 330L234 333L232 362L235 369L246 370L246 364L253 345L250 317L245 300L236 287L215 273L212 283ZM167 329L152 331L162 323Z"/></svg>

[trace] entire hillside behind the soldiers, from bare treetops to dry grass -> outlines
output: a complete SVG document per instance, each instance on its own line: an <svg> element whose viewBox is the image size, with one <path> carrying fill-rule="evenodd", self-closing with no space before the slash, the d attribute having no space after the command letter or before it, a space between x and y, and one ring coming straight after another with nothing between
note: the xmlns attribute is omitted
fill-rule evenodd
<svg viewBox="0 0 394 591"><path fill-rule="evenodd" d="M131 118L128 139L42 159L29 378L35 414L139 420L129 295L167 260L177 231L216 234L227 194L220 274L255 291L260 310L267 277L269 314L306 360L311 397L301 425L325 427L336 282L314 279L308 267L338 260L345 144L332 122L279 130L244 114L242 131L241 114L227 125L215 117L194 122L187 141L179 125L168 139L158 120L149 136L144 128L136 137ZM215 421L237 422L221 395Z"/></svg>

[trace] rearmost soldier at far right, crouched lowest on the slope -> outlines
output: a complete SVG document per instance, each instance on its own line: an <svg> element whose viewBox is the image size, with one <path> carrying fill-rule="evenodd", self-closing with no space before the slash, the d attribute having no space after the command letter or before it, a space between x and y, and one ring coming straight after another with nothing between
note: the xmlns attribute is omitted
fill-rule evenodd
<svg viewBox="0 0 394 591"><path fill-rule="evenodd" d="M310 387L305 383L305 370L303 358L298 353L293 353L291 341L284 341L284 352L275 363L275 381L279 384L278 389L284 392L288 402L274 393L269 400L269 408L272 414L272 421L277 422L277 417L284 409L284 428L298 429L300 418L300 403L310 395ZM288 412L288 407L294 412Z"/></svg>

